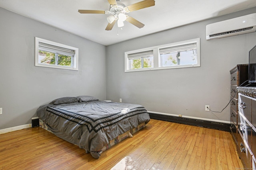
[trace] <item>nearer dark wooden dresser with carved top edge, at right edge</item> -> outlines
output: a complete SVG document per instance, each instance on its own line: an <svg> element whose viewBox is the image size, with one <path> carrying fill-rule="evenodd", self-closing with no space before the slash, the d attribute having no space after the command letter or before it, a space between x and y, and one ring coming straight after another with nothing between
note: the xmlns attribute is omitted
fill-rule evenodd
<svg viewBox="0 0 256 170"><path fill-rule="evenodd" d="M245 169L256 169L256 87L237 87L238 154Z"/></svg>

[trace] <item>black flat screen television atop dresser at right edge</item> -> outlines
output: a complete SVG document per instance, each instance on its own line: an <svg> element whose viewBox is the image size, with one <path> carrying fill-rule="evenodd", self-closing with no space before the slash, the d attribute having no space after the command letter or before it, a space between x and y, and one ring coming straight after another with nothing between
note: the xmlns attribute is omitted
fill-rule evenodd
<svg viewBox="0 0 256 170"><path fill-rule="evenodd" d="M249 83L256 83L256 46L249 51Z"/></svg>

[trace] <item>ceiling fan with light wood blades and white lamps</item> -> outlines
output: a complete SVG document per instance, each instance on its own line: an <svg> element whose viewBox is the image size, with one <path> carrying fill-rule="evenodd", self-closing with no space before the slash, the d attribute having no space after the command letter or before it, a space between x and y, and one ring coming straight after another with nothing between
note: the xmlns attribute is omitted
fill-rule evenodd
<svg viewBox="0 0 256 170"><path fill-rule="evenodd" d="M143 0L135 4L125 6L120 0L108 0L110 4L109 11L100 11L100 10L78 10L81 14L108 14L107 17L108 25L105 30L112 30L116 21L118 27L124 26L124 21L128 21L131 24L135 25L138 28L144 27L144 24L140 21L126 15L126 13L140 10L143 8L148 8L155 5L155 0Z"/></svg>

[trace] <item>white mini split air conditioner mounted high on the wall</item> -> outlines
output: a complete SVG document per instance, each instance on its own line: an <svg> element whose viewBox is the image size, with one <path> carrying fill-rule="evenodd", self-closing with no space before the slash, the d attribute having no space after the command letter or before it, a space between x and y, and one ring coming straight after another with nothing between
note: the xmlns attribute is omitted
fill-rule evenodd
<svg viewBox="0 0 256 170"><path fill-rule="evenodd" d="M206 25L206 39L216 39L256 31L256 13Z"/></svg>

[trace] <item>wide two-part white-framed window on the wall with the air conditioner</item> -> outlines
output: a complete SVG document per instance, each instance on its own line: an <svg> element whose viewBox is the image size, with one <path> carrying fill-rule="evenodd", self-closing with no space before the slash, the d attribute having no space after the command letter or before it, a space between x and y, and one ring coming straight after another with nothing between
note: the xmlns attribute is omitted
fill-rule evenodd
<svg viewBox="0 0 256 170"><path fill-rule="evenodd" d="M200 66L200 38L125 52L125 72Z"/></svg>

